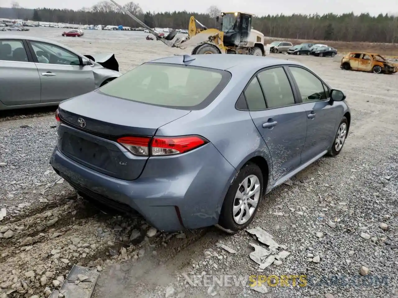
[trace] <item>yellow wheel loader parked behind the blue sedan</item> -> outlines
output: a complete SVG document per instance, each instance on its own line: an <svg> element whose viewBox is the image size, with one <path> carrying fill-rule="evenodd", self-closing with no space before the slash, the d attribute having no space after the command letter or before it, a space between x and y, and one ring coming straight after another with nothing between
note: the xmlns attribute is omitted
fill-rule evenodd
<svg viewBox="0 0 398 298"><path fill-rule="evenodd" d="M268 52L264 47L264 35L260 31L252 29L252 16L244 12L223 12L221 13L221 31L214 28L207 28L195 17L189 19L188 37L180 39L176 30L170 32L166 37L160 36L152 28L132 15L123 6L111 0L123 12L133 18L137 23L148 29L157 40L164 44L185 49L194 46L191 54L248 54L254 56L265 56ZM219 21L219 16L217 16ZM197 28L196 24L201 28ZM175 38L176 37L176 38ZM173 41L173 39L175 39ZM268 46L269 47L269 46Z"/></svg>

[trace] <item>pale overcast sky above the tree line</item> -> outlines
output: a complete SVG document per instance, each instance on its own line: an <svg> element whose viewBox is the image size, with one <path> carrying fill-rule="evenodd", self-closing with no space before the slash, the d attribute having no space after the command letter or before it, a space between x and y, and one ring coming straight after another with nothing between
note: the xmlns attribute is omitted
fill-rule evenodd
<svg viewBox="0 0 398 298"><path fill-rule="evenodd" d="M69 8L80 9L91 7L96 4L97 0L16 0L20 6L26 8ZM129 0L116 0L123 5ZM378 15L380 13L398 13L398 0L151 0L151 1L135 1L138 2L142 10L150 10L155 12L187 10L195 12L206 12L207 9L216 4L223 11L244 11L257 15L266 14L327 14L333 12L335 14L343 14L345 12L354 12L355 14L367 13ZM0 0L0 6L10 7L12 0Z"/></svg>

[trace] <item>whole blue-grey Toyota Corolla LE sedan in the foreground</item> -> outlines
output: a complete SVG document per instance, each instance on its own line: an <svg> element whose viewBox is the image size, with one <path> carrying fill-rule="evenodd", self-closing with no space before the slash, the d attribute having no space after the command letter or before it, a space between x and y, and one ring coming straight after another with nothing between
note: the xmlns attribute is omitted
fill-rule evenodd
<svg viewBox="0 0 398 298"><path fill-rule="evenodd" d="M60 103L50 163L83 197L158 230L235 233L264 194L341 152L344 99L290 60L161 58Z"/></svg>

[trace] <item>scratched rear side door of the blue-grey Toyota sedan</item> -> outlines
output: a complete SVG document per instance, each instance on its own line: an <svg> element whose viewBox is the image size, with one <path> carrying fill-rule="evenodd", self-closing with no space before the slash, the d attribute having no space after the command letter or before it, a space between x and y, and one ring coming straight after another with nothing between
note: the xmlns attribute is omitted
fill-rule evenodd
<svg viewBox="0 0 398 298"><path fill-rule="evenodd" d="M282 66L259 72L244 91L250 116L271 153L274 180L301 162L306 114L293 94Z"/></svg>

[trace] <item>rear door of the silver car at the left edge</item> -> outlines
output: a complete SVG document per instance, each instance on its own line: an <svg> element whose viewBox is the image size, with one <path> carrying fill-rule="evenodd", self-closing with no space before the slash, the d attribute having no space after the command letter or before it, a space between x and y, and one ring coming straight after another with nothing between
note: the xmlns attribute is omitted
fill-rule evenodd
<svg viewBox="0 0 398 298"><path fill-rule="evenodd" d="M0 39L0 101L6 106L40 103L40 77L22 39Z"/></svg>

